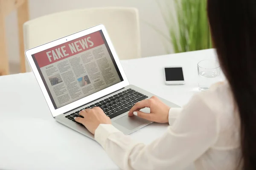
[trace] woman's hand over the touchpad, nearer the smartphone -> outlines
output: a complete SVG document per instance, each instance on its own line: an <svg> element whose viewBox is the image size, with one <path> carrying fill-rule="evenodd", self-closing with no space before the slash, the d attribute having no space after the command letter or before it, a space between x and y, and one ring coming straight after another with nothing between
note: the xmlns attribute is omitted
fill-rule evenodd
<svg viewBox="0 0 256 170"><path fill-rule="evenodd" d="M141 112L142 108L150 108L150 113ZM152 96L150 99L138 102L131 108L129 116L137 115L143 119L158 123L168 123L170 107L164 104L160 99Z"/></svg>

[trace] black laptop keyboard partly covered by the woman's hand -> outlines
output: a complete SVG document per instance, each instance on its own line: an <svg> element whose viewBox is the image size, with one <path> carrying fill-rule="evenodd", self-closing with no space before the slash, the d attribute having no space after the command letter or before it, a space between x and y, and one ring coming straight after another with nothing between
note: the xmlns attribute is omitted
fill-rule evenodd
<svg viewBox="0 0 256 170"><path fill-rule="evenodd" d="M146 98L148 98L148 96L145 96L144 94L141 94L129 88L125 91L120 92L119 94L115 94L100 102L96 102L93 105L87 106L86 108L83 108L79 111L75 111L74 113L71 113L65 117L73 122L76 122L74 119L75 117L82 117L79 115L80 111L88 108L99 107L102 108L104 113L108 117L110 117L110 119L112 119L116 116L119 116L122 113L130 111L130 109L135 105L135 103L140 102ZM83 126L79 122L76 123Z"/></svg>

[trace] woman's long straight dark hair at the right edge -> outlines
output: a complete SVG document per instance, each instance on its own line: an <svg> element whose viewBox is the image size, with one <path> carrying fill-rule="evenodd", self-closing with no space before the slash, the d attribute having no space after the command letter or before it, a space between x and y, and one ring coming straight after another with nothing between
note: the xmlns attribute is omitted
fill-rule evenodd
<svg viewBox="0 0 256 170"><path fill-rule="evenodd" d="M241 165L256 170L256 0L208 0L212 41L241 119Z"/></svg>

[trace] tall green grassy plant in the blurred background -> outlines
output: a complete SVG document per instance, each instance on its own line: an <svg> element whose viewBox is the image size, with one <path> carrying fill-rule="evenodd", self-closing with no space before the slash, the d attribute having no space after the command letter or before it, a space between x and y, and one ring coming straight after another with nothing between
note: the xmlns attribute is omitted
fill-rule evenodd
<svg viewBox="0 0 256 170"><path fill-rule="evenodd" d="M165 1L164 7L157 1L169 36L163 35L175 53L212 48L212 41L207 19L207 0L173 0L175 10L170 10L173 3ZM156 30L156 29L155 29Z"/></svg>

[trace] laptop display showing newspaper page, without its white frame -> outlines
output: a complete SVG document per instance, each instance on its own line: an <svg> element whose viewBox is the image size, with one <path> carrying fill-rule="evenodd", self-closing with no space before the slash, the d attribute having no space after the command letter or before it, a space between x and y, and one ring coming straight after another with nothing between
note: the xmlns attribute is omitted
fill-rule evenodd
<svg viewBox="0 0 256 170"><path fill-rule="evenodd" d="M32 58L55 109L123 81L101 30Z"/></svg>

